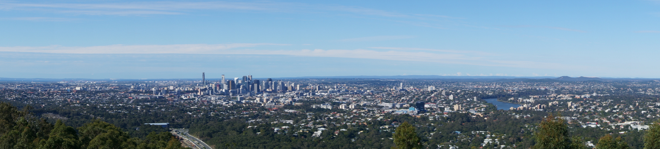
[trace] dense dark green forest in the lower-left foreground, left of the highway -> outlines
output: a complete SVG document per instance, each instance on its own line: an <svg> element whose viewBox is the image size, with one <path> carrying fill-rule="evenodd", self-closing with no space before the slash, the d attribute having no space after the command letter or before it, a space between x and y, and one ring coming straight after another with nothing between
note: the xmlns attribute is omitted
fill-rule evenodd
<svg viewBox="0 0 660 149"><path fill-rule="evenodd" d="M171 133L151 132L144 138L130 137L110 123L93 119L74 129L58 120L53 125L38 119L25 106L18 110L0 102L0 148L183 148Z"/></svg>

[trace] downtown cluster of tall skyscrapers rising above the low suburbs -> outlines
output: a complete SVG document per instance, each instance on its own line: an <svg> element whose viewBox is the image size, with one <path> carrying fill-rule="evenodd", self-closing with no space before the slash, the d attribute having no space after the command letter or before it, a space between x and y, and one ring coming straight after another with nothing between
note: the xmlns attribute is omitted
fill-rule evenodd
<svg viewBox="0 0 660 149"><path fill-rule="evenodd" d="M259 79L252 79L252 75L246 75L242 78L234 77L234 79L222 79L218 81L209 81L205 78L205 73L202 73L202 87L198 88L199 95L236 95L261 92L285 92L300 90L300 85L294 83L284 82L282 80L273 81L273 79L266 79L261 81Z"/></svg>

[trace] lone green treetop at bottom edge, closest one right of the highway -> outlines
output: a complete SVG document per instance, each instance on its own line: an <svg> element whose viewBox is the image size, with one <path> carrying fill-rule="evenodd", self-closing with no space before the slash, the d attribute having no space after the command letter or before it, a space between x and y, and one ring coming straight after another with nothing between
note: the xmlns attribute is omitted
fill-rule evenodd
<svg viewBox="0 0 660 149"><path fill-rule="evenodd" d="M395 131L394 135L394 144L396 146L392 147L393 149L412 149L412 148L422 148L420 143L420 138L415 132L415 128L408 122L404 122Z"/></svg>

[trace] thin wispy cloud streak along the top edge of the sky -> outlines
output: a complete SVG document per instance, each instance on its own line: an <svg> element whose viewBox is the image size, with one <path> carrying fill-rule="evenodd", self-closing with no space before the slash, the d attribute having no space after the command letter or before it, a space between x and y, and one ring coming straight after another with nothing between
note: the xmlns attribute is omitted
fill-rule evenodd
<svg viewBox="0 0 660 149"><path fill-rule="evenodd" d="M21 3L0 1L0 10L119 16L179 15L195 14L199 11L337 14L372 19L391 18L393 20L384 20L441 29L444 29L444 27L439 24L446 23L446 20L463 19L438 14L413 14L355 6L312 5L274 1L146 1L131 3L92 3L90 1L82 3Z"/></svg>

